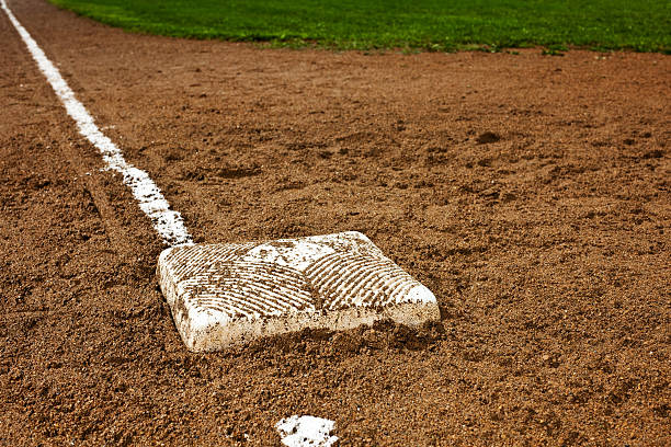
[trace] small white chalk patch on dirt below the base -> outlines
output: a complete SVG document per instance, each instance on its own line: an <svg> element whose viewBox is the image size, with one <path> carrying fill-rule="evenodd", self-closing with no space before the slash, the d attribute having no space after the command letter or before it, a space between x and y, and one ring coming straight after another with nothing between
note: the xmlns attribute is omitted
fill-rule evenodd
<svg viewBox="0 0 671 447"><path fill-rule="evenodd" d="M338 442L338 436L331 436L336 423L321 417L293 415L275 428L287 447L331 447Z"/></svg>

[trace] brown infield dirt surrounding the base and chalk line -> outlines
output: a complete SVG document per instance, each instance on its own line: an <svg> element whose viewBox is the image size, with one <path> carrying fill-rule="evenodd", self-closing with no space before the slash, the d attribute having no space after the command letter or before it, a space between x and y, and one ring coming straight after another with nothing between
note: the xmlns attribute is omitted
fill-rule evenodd
<svg viewBox="0 0 671 447"><path fill-rule="evenodd" d="M442 321L187 352L162 249L0 16L0 445L671 445L671 58L263 49L10 1L198 241L359 230Z"/></svg>

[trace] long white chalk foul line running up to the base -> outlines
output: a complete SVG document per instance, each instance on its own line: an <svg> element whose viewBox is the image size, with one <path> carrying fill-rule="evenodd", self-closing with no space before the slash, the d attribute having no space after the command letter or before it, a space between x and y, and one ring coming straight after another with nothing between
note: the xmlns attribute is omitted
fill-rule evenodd
<svg viewBox="0 0 671 447"><path fill-rule="evenodd" d="M100 131L93 117L83 104L75 98L75 92L62 79L58 69L46 57L42 48L39 48L29 32L25 31L14 14L12 14L12 11L7 5L7 1L0 0L0 4L21 38L23 38L39 70L44 73L54 92L56 92L56 95L65 105L68 115L77 123L79 133L98 148L107 169L120 172L123 175L124 183L133 192L141 210L151 219L153 228L158 231L163 242L169 245L193 243L191 234L189 234L186 227L184 227L182 216L178 211L170 209L170 204L166 200L156 183L149 177L149 174L128 163L116 145Z"/></svg>

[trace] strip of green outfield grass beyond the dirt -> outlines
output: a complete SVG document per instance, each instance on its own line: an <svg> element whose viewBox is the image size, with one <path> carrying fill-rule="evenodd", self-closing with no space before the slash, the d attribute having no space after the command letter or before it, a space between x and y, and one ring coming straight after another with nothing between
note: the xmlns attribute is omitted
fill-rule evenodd
<svg viewBox="0 0 671 447"><path fill-rule="evenodd" d="M50 0L167 36L427 50L671 50L669 0Z"/></svg>

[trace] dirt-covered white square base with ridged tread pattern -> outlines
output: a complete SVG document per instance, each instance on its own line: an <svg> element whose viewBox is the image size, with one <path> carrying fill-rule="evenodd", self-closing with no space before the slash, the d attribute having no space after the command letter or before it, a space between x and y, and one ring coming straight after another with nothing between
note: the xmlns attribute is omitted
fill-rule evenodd
<svg viewBox="0 0 671 447"><path fill-rule="evenodd" d="M434 295L356 231L173 247L161 253L158 276L192 351L305 328L440 320Z"/></svg>

